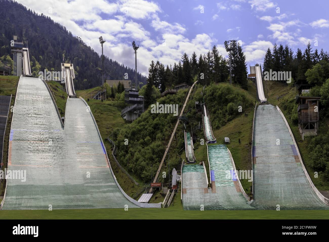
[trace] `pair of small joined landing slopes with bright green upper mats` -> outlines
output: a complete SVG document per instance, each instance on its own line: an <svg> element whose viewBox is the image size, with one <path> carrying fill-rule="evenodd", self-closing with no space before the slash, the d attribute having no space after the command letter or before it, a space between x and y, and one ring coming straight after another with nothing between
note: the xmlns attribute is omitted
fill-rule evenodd
<svg viewBox="0 0 329 242"><path fill-rule="evenodd" d="M235 179L229 151L225 145L208 146L211 188L205 169L200 165L185 165L182 171L184 210L246 210L255 209L244 197L239 180ZM246 196L246 195L245 195Z"/></svg>

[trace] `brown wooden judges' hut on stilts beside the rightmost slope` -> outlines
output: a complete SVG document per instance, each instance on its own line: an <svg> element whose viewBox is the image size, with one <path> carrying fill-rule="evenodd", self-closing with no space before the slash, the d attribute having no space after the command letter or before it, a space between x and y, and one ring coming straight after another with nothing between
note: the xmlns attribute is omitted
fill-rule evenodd
<svg viewBox="0 0 329 242"><path fill-rule="evenodd" d="M319 99L320 97L296 96L298 103L298 128L304 140L304 136L317 135L319 125Z"/></svg>

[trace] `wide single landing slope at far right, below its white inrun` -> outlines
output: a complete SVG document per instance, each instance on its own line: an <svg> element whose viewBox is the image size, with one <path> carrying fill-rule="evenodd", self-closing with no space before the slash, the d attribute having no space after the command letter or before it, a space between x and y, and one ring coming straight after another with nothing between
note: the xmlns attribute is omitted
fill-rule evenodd
<svg viewBox="0 0 329 242"><path fill-rule="evenodd" d="M272 105L255 110L252 205L259 209L329 209L315 194L288 127ZM280 142L280 143L278 143Z"/></svg>

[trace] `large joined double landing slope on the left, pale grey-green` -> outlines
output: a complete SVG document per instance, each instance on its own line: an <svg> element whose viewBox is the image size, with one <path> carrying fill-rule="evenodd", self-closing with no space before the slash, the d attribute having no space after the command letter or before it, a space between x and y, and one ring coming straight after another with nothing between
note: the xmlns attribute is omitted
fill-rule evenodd
<svg viewBox="0 0 329 242"><path fill-rule="evenodd" d="M118 187L84 100L68 98L64 124L46 84L21 77L8 167L26 171L26 180L7 180L3 209L138 207Z"/></svg>

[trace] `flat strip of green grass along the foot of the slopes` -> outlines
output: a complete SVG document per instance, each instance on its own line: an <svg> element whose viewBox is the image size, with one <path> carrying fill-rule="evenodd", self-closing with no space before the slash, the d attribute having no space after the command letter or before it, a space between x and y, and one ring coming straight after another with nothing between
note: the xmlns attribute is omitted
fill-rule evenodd
<svg viewBox="0 0 329 242"><path fill-rule="evenodd" d="M206 210L170 208L1 210L0 219L328 219L329 210Z"/></svg>

